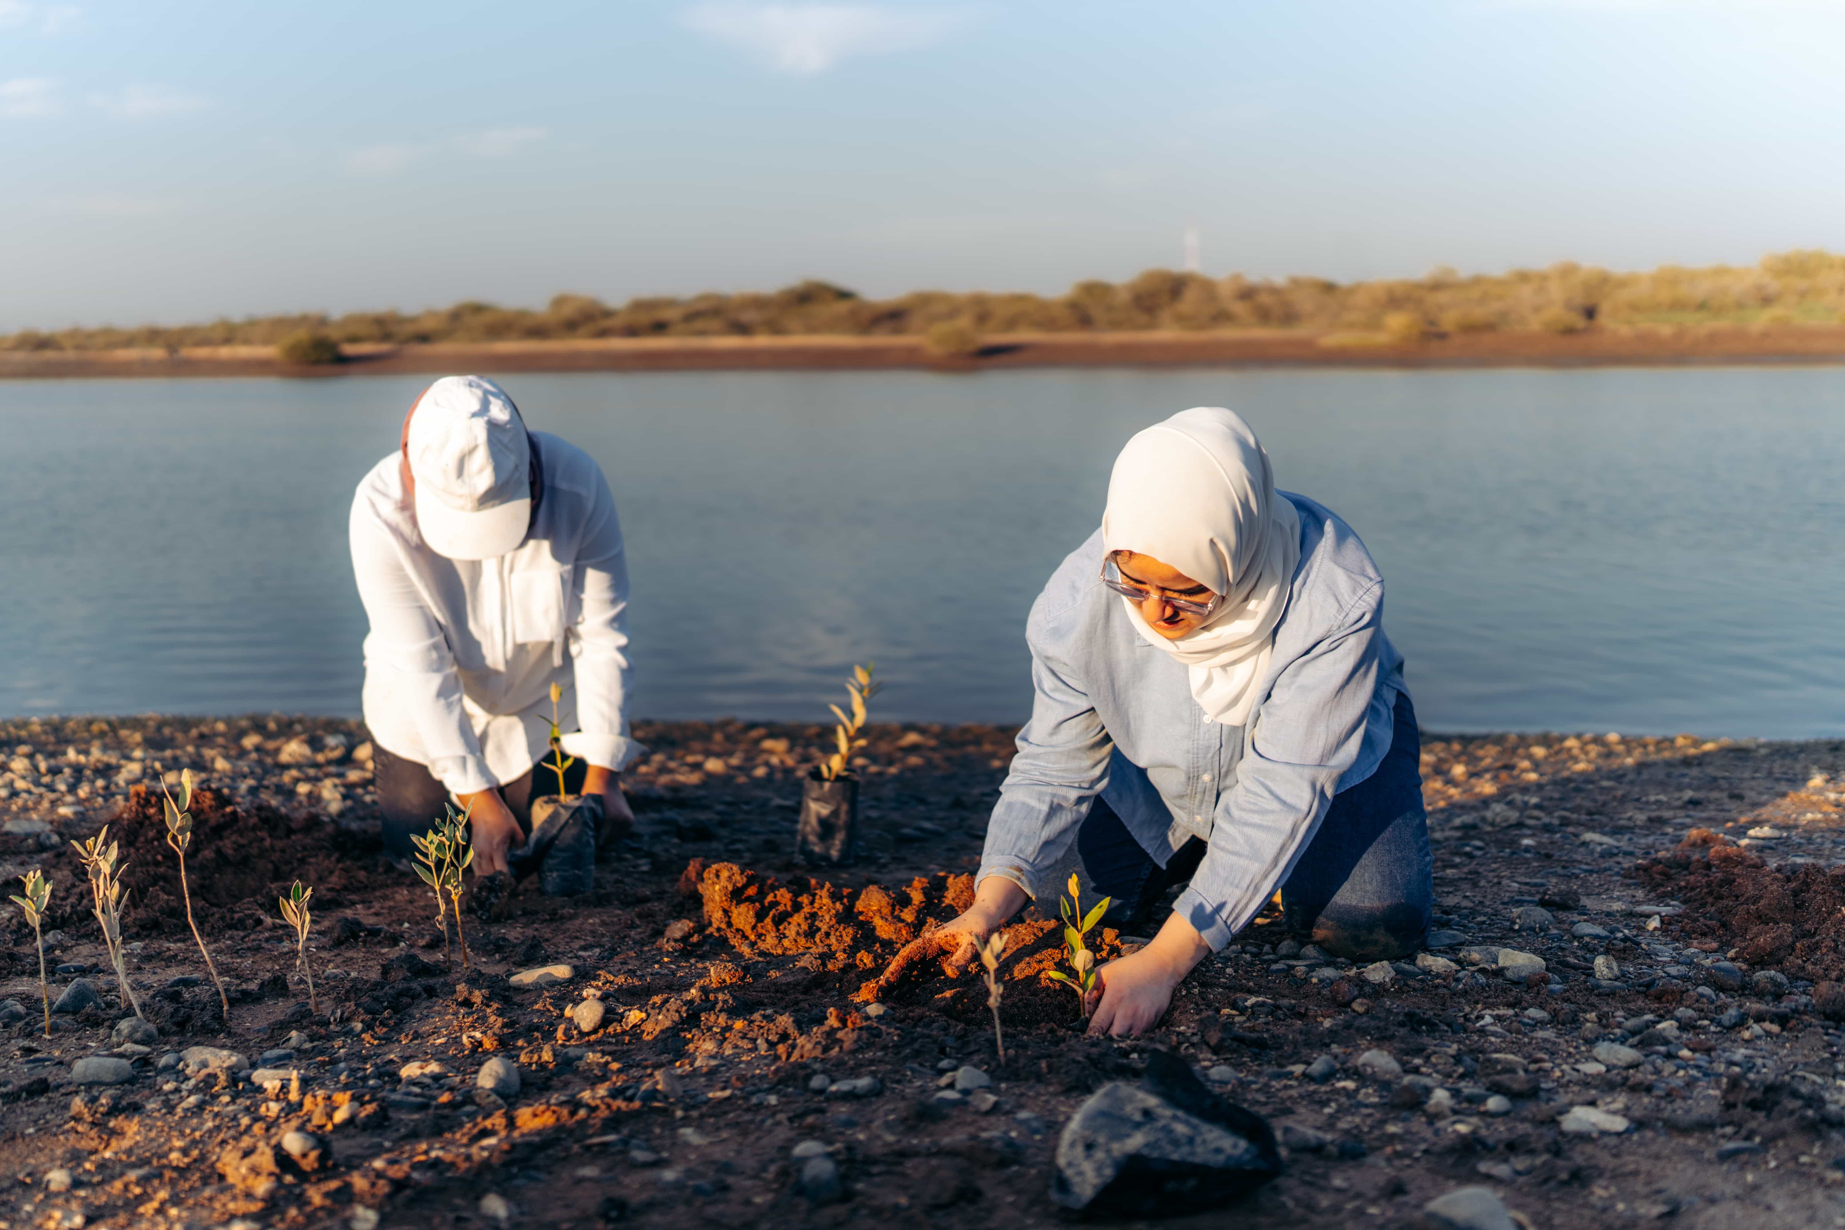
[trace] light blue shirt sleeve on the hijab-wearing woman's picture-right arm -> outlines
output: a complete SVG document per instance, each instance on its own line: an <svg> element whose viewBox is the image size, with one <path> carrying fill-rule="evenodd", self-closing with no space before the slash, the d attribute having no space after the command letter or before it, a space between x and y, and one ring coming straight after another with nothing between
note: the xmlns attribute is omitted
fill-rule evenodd
<svg viewBox="0 0 1845 1230"><path fill-rule="evenodd" d="M1384 588L1373 585L1277 675L1236 784L1218 804L1205 861L1173 902L1212 948L1249 926L1319 830L1363 745L1382 640Z"/></svg>

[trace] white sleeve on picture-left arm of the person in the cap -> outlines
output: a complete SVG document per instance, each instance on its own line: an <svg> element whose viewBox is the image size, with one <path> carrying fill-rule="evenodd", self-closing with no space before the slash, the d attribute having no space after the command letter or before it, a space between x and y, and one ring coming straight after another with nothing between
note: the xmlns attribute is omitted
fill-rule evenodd
<svg viewBox="0 0 1845 1230"><path fill-rule="evenodd" d="M371 623L365 669L389 673L389 704L410 719L430 773L450 793L493 789L500 782L461 708L461 675L448 640L363 496L352 505L351 540L358 597Z"/></svg>

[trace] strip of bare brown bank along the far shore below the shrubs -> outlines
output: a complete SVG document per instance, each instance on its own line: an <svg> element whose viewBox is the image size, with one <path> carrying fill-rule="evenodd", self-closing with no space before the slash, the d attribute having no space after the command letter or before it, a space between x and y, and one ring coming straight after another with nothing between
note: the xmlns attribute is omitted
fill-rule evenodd
<svg viewBox="0 0 1845 1230"><path fill-rule="evenodd" d="M397 376L411 373L943 371L1009 367L1672 367L1845 361L1845 325L1498 332L1391 343L1306 330L1000 334L945 358L921 337L607 337L354 345L347 361L297 367L268 347L0 352L0 380Z"/></svg>

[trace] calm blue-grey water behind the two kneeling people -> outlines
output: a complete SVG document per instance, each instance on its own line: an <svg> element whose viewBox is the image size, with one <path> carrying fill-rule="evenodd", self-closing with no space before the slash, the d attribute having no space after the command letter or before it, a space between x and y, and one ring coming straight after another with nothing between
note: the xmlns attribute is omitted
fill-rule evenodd
<svg viewBox="0 0 1845 1230"><path fill-rule="evenodd" d="M426 384L0 382L0 714L356 714L352 487ZM1845 373L509 376L627 531L637 714L1018 721L1140 426L1238 408L1389 586L1424 725L1845 732Z"/></svg>

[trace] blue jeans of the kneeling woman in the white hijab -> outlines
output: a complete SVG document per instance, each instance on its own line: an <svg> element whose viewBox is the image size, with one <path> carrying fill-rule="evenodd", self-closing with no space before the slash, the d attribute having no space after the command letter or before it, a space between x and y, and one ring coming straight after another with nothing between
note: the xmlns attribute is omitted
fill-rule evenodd
<svg viewBox="0 0 1845 1230"><path fill-rule="evenodd" d="M1280 887L1282 924L1336 957L1386 961L1422 946L1434 909L1434 861L1422 810L1421 732L1410 695L1397 693L1389 752L1376 773L1339 791L1312 845ZM1090 881L1114 898L1109 922L1138 926L1161 896L1205 857L1190 839L1161 867L1120 817L1096 798L1076 834Z"/></svg>

